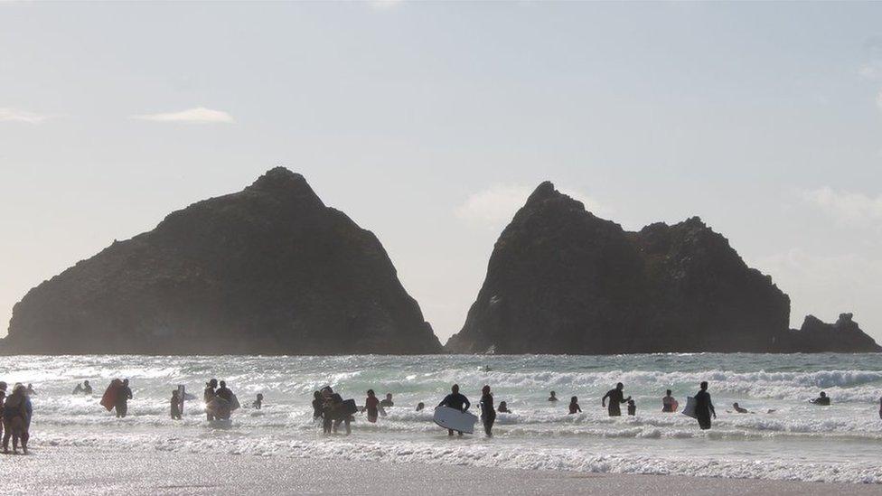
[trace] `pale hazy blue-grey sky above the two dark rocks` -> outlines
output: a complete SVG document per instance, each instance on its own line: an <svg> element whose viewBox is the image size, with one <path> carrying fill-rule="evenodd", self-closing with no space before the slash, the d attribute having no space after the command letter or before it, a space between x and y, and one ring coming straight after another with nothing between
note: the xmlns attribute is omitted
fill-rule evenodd
<svg viewBox="0 0 882 496"><path fill-rule="evenodd" d="M442 342L540 182L698 215L882 342L882 3L0 2L0 335L34 285L276 165Z"/></svg>

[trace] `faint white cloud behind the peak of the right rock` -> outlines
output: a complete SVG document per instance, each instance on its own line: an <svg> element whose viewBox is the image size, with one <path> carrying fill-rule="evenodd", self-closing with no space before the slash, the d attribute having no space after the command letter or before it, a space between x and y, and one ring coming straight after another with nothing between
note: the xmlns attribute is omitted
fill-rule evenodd
<svg viewBox="0 0 882 496"><path fill-rule="evenodd" d="M476 225L498 229L508 223L527 201L535 188L522 184L495 184L486 190L474 192L456 207L456 217ZM609 211L581 192L560 190L581 201L587 211L595 214Z"/></svg>

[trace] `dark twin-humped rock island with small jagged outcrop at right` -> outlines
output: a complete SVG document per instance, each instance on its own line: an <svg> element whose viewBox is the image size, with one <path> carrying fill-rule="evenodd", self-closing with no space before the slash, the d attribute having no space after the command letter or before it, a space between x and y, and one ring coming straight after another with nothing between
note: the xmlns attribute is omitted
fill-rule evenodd
<svg viewBox="0 0 882 496"><path fill-rule="evenodd" d="M880 351L850 315L801 331L789 320L790 298L699 218L628 232L543 182L446 351Z"/></svg>

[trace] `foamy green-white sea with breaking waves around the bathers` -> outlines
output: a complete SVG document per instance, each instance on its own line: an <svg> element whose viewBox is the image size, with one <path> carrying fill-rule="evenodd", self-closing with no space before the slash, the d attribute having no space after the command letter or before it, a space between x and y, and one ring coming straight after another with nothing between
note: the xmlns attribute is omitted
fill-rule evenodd
<svg viewBox="0 0 882 496"><path fill-rule="evenodd" d="M135 398L117 419L99 406L112 378L128 378ZM230 428L202 414L202 388L225 379L248 406ZM882 483L882 357L877 354L654 354L620 356L345 356L145 357L14 356L0 360L0 379L31 382L32 449L160 450L199 454L451 463L589 473L671 473L826 482ZM94 397L73 396L83 379ZM710 431L661 412L666 388L680 405L701 380L718 419ZM636 416L610 418L600 398L615 382L637 403ZM495 436L448 438L432 407L458 383L474 403L488 384L498 403ZM183 421L168 415L178 384L198 399ZM352 435L321 433L312 393L331 385L363 404L365 391L394 395L389 416L370 424L361 414ZM558 401L549 403L549 390ZM823 389L830 407L808 403ZM568 415L577 396L583 413ZM416 412L419 401L427 409ZM755 414L731 413L739 402ZM477 409L475 405L473 407ZM774 413L767 413L774 409ZM623 406L624 410L624 406ZM728 410L728 411L727 411Z"/></svg>

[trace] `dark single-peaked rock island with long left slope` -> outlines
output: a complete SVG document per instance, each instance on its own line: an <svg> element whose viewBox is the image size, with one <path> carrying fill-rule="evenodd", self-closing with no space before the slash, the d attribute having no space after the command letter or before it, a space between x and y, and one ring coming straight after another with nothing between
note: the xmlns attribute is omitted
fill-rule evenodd
<svg viewBox="0 0 882 496"><path fill-rule="evenodd" d="M33 288L6 352L434 353L368 230L278 167Z"/></svg>

